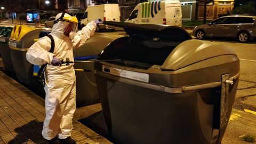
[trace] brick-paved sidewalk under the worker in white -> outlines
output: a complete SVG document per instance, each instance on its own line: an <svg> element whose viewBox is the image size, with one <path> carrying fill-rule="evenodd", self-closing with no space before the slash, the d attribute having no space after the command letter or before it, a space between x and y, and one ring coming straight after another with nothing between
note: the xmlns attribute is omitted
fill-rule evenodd
<svg viewBox="0 0 256 144"><path fill-rule="evenodd" d="M0 71L0 143L47 143L42 137L44 99ZM77 120L72 138L79 144L111 143Z"/></svg>

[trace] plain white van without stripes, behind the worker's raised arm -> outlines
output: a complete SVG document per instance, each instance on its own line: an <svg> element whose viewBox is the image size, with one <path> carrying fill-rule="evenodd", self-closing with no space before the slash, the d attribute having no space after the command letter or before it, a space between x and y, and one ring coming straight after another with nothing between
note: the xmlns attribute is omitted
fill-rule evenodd
<svg viewBox="0 0 256 144"><path fill-rule="evenodd" d="M87 7L81 20L81 26L84 27L92 20L101 18L103 21L118 21L120 22L120 10L118 4L101 4ZM100 24L97 31L100 29L114 30L115 27Z"/></svg>

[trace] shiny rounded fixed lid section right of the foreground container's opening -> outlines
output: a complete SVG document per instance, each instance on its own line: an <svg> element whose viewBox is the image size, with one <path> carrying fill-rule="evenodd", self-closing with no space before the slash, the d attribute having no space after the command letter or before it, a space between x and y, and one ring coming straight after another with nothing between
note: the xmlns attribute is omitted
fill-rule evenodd
<svg viewBox="0 0 256 144"><path fill-rule="evenodd" d="M220 55L236 55L236 53L225 45L190 39L175 47L161 68L163 70L177 70Z"/></svg>

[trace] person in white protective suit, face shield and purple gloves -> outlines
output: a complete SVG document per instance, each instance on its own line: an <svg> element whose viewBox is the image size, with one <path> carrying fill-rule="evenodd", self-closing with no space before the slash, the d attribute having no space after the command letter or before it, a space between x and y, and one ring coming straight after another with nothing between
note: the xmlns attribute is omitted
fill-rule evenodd
<svg viewBox="0 0 256 144"><path fill-rule="evenodd" d="M27 60L33 65L46 66L45 110L46 117L42 135L49 143L76 143L71 139L72 118L76 109L76 77L73 63L61 65L60 59L74 61L73 49L85 44L93 34L100 19L91 21L76 33L77 18L67 13L57 14L52 31L55 43L53 53L51 39L39 38L28 50Z"/></svg>

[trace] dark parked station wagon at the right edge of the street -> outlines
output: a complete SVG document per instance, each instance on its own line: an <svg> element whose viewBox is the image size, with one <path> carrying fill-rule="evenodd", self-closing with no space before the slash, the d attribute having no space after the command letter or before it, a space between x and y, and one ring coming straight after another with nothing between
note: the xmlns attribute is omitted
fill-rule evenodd
<svg viewBox="0 0 256 144"><path fill-rule="evenodd" d="M198 39L205 37L235 37L245 43L256 38L256 16L229 15L211 21L208 24L196 26L193 34Z"/></svg>

